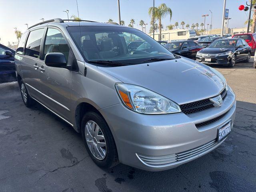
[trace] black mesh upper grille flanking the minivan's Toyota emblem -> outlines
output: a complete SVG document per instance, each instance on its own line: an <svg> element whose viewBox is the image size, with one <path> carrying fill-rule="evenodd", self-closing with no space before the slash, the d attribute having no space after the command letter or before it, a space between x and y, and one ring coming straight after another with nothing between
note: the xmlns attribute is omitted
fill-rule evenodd
<svg viewBox="0 0 256 192"><path fill-rule="evenodd" d="M226 89L224 89L220 95L222 96L222 100L226 98L227 92ZM210 99L203 99L191 103L186 103L180 105L180 109L184 114L191 114L191 113L197 113L203 110L207 110L214 107L213 102L210 101Z"/></svg>

